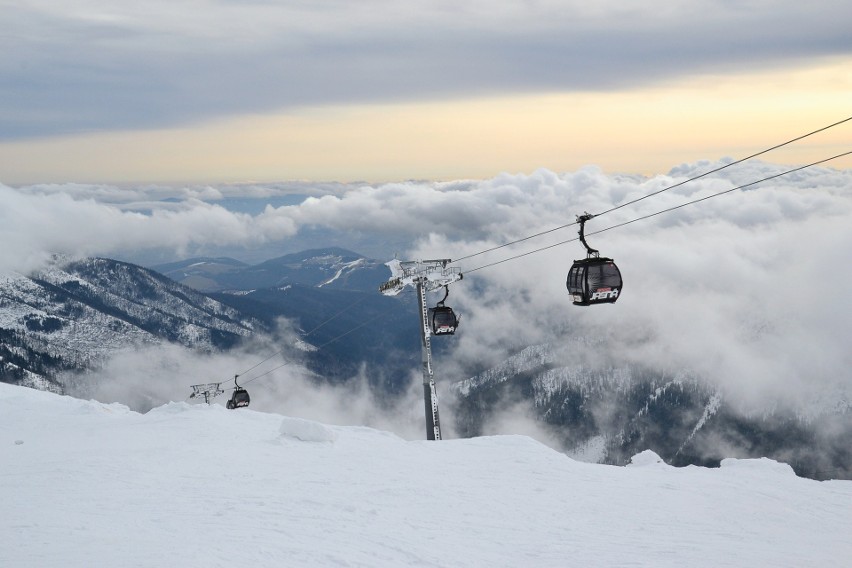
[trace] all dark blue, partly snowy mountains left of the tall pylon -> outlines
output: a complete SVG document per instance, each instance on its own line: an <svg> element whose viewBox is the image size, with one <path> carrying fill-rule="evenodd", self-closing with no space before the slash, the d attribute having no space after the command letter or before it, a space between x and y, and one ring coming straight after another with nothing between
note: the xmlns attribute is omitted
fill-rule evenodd
<svg viewBox="0 0 852 568"><path fill-rule="evenodd" d="M59 392L63 374L123 349L172 342L227 350L287 318L308 345L324 347L306 355L318 376L342 381L366 371L394 392L416 365L419 338L415 303L377 292L389 274L337 248L255 266L196 258L149 269L57 257L37 273L0 279L0 380Z"/></svg>

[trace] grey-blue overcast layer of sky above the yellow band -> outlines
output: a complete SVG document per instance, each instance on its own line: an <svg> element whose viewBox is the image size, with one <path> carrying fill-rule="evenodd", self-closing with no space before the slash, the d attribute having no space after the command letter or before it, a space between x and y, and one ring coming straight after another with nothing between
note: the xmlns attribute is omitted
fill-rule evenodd
<svg viewBox="0 0 852 568"><path fill-rule="evenodd" d="M852 53L842 1L0 1L0 139L618 90Z"/></svg>

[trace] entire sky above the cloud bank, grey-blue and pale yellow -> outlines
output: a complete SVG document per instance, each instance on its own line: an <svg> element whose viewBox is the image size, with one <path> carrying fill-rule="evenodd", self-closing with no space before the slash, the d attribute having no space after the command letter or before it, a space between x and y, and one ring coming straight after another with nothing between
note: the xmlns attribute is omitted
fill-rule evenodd
<svg viewBox="0 0 852 568"><path fill-rule="evenodd" d="M842 0L0 0L0 182L667 172L852 115L850 20Z"/></svg>

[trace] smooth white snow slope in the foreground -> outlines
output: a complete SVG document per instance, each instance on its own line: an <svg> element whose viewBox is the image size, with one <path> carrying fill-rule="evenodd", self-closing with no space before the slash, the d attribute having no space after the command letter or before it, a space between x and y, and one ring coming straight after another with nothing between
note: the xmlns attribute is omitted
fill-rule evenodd
<svg viewBox="0 0 852 568"><path fill-rule="evenodd" d="M0 566L849 566L852 482L0 384Z"/></svg>

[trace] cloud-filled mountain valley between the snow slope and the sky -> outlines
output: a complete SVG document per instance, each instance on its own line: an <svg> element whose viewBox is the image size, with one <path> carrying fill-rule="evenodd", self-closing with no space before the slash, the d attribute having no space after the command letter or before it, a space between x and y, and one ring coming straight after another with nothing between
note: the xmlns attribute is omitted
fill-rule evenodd
<svg viewBox="0 0 852 568"><path fill-rule="evenodd" d="M575 215L724 164L307 189L0 186L17 245L2 257L3 380L144 411L245 372L253 408L417 439L416 299L378 286L394 256L463 259L447 298L458 333L433 338L447 437L522 433L616 464L644 449L676 465L766 455L849 477L852 307L817 283L852 281L850 172L808 168L655 215L785 171L752 161L592 219L588 241L625 287L613 305L570 303Z"/></svg>

